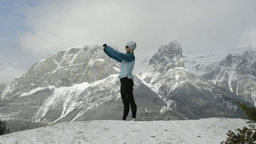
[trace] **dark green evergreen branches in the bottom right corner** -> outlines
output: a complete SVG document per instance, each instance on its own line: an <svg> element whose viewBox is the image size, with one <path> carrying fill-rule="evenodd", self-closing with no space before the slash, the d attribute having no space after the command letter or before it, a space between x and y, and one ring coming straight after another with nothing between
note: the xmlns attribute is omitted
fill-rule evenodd
<svg viewBox="0 0 256 144"><path fill-rule="evenodd" d="M245 112L248 116L246 119L249 121L251 128L244 127L242 130L237 129L238 133L235 134L233 131L229 130L226 134L228 136L227 140L222 141L221 144L255 144L256 143L256 108L248 107L246 104L236 102L241 106L241 110Z"/></svg>

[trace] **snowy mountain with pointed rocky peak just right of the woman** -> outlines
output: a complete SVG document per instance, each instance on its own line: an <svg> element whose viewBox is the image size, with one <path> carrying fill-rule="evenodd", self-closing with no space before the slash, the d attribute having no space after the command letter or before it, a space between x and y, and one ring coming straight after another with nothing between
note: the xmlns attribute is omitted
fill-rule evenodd
<svg viewBox="0 0 256 144"><path fill-rule="evenodd" d="M161 46L138 76L158 94L171 110L188 119L239 117L234 104L241 98L184 68L178 41Z"/></svg>

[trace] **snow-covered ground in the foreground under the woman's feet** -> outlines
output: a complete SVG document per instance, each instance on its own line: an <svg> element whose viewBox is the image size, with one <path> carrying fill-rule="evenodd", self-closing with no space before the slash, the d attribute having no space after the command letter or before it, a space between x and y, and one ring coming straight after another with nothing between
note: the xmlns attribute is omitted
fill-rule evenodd
<svg viewBox="0 0 256 144"><path fill-rule="evenodd" d="M246 120L62 122L0 136L0 144L220 144Z"/></svg>

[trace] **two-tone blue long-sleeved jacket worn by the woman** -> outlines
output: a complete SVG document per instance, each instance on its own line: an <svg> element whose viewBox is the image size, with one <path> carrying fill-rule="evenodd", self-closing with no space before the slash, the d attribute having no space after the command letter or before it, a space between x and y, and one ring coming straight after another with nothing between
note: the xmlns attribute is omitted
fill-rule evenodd
<svg viewBox="0 0 256 144"><path fill-rule="evenodd" d="M130 53L121 53L121 52L117 52L115 51L113 48L111 48L110 46L107 46L105 48L106 51L105 54L108 55L108 57L121 62L121 71L119 73L119 78L124 78L127 76L128 79L133 78L132 76L132 70L134 68L134 64L135 64L135 56L134 54L130 54Z"/></svg>

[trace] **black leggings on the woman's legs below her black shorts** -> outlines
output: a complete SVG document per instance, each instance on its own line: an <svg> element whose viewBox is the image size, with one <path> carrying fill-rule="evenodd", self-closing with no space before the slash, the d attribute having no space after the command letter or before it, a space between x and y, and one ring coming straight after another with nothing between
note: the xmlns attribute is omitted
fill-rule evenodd
<svg viewBox="0 0 256 144"><path fill-rule="evenodd" d="M126 120L128 114L129 114L130 105L131 105L131 110L132 110L132 118L136 118L137 106L136 106L134 98L133 98L133 93L132 92L121 93L121 97L122 97L123 104L124 104L124 114L123 114L122 120Z"/></svg>

